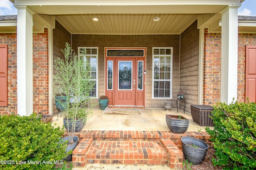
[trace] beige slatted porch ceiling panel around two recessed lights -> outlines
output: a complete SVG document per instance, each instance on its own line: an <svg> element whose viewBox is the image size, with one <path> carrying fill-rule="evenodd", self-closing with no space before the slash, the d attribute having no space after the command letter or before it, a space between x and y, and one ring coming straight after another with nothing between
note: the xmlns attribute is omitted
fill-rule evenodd
<svg viewBox="0 0 256 170"><path fill-rule="evenodd" d="M92 18L99 21L93 21ZM159 21L153 21L159 17ZM180 34L197 14L72 14L56 16L72 34Z"/></svg>

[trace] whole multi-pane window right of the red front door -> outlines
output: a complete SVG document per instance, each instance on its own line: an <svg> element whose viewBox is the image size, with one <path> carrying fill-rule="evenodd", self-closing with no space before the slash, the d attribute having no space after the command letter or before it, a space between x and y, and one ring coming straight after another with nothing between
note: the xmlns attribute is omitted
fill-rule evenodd
<svg viewBox="0 0 256 170"><path fill-rule="evenodd" d="M172 47L152 49L152 98L172 98Z"/></svg>

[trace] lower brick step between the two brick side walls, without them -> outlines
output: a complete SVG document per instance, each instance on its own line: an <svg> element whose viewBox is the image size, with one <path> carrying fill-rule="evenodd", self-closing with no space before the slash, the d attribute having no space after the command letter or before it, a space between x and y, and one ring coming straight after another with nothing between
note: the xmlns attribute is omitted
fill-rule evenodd
<svg viewBox="0 0 256 170"><path fill-rule="evenodd" d="M168 155L156 142L94 141L86 153L89 164L167 164Z"/></svg>

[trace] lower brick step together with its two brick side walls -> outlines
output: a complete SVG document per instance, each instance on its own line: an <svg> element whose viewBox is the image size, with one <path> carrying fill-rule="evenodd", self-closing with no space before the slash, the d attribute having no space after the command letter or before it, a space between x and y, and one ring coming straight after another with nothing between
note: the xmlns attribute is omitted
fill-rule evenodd
<svg viewBox="0 0 256 170"><path fill-rule="evenodd" d="M182 168L183 153L171 139L108 141L83 138L73 150L74 167L85 164L148 164Z"/></svg>

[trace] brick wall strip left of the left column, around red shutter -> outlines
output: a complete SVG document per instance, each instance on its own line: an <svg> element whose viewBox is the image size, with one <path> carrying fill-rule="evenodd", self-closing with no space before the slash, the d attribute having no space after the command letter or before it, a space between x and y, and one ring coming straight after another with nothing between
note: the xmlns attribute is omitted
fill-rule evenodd
<svg viewBox="0 0 256 170"><path fill-rule="evenodd" d="M8 106L0 106L0 115L17 114L17 45L16 33L0 33L0 44L8 45Z"/></svg>

